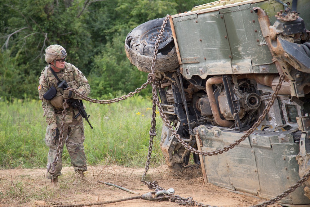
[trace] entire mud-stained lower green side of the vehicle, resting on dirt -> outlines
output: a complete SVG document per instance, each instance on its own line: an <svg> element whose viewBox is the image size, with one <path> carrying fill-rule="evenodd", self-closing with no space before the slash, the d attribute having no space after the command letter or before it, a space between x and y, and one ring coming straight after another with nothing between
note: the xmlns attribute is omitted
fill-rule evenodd
<svg viewBox="0 0 310 207"><path fill-rule="evenodd" d="M198 128L201 150L213 151L239 139L243 133ZM289 132L255 131L245 141L223 154L203 156L207 181L230 190L250 192L271 199L299 180L296 156L299 144ZM303 188L297 188L282 204L310 204Z"/></svg>

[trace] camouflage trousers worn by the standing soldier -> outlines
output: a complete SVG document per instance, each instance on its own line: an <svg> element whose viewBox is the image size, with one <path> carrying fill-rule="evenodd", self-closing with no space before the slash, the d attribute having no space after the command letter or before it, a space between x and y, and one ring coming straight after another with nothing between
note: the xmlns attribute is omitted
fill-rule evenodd
<svg viewBox="0 0 310 207"><path fill-rule="evenodd" d="M57 127L60 131L61 124L57 123ZM50 128L47 126L47 133L45 135L45 144L50 148L48 151L47 156L47 169L51 168L51 164L54 161L54 158L57 153L57 146L59 140L57 139L56 142L54 141L54 138L49 136ZM58 162L56 164L56 172L51 174L47 172L47 178L53 179L59 175L61 175L61 169L62 169L62 152L64 149L64 143L66 144L67 150L70 155L71 164L73 165L74 171L82 170L86 171L86 156L84 152L84 145L83 142L85 140L84 136L84 125L83 125L83 119L77 120L73 119L72 123L65 123L64 124L64 138L62 141L62 146L60 150L60 156L58 159Z"/></svg>

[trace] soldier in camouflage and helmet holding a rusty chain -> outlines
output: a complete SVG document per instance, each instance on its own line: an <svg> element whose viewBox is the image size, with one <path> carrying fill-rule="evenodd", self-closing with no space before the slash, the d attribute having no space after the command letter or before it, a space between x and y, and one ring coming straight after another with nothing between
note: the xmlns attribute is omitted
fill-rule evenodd
<svg viewBox="0 0 310 207"><path fill-rule="evenodd" d="M82 116L78 116L77 119L74 119L75 115L78 114L78 110L73 109L71 106L66 108L67 115L64 120L64 132L59 160L55 166L55 171L53 173L51 172L59 142L64 99L81 99L69 90L58 88L58 84L66 80L70 88L76 89L85 96L87 96L91 90L82 72L74 65L65 62L66 56L67 53L64 47L60 45L50 45L46 48L45 61L49 65L45 66L42 71L38 86L39 97L40 100L42 100L42 108L44 110L43 116L47 116L46 122L48 125L45 135L45 144L49 147L47 178L51 179L52 188L57 186L58 176L61 175L61 155L64 143L66 144L71 164L76 173L76 179L73 184L76 184L78 179L81 179L84 183L90 184L90 181L84 176L84 171L87 170L87 167L83 145L85 140L83 120Z"/></svg>

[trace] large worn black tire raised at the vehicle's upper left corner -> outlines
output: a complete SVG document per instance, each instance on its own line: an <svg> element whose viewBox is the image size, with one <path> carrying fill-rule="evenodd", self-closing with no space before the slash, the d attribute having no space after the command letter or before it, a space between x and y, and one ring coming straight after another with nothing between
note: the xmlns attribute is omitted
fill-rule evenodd
<svg viewBox="0 0 310 207"><path fill-rule="evenodd" d="M126 37L126 55L130 62L141 71L151 72L156 38L164 19L161 18L145 22L133 29ZM172 71L179 67L169 21L166 23L162 39L157 48L157 60L154 67L155 73Z"/></svg>

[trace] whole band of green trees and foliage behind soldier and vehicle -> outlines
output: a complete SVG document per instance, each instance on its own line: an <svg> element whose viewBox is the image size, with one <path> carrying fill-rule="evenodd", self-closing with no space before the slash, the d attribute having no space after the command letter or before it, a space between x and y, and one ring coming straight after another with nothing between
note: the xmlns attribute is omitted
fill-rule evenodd
<svg viewBox="0 0 310 207"><path fill-rule="evenodd" d="M0 98L37 98L44 50L51 44L66 48L67 61L89 79L91 96L133 91L147 74L127 59L126 35L143 22L206 2L0 0Z"/></svg>

